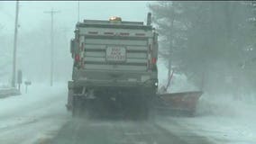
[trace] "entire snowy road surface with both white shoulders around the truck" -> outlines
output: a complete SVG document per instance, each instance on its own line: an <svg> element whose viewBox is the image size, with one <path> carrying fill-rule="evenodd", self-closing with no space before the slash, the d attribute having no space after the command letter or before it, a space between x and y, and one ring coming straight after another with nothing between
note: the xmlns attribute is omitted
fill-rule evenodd
<svg viewBox="0 0 256 144"><path fill-rule="evenodd" d="M233 117L158 117L150 121L72 119L67 85L32 85L28 94L0 100L2 144L254 144L255 129ZM252 107L254 108L254 107ZM245 119L246 120L246 119ZM255 119L254 119L255 120ZM209 124L210 123L210 124Z"/></svg>

